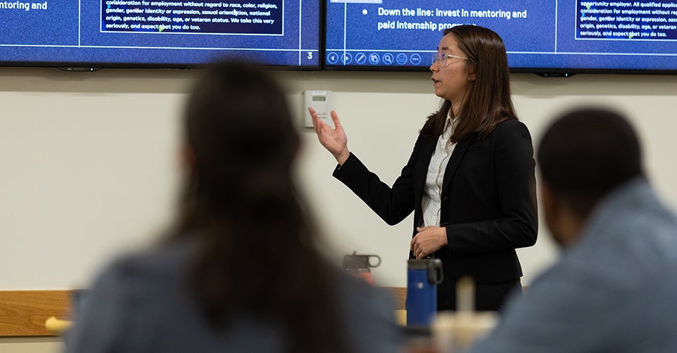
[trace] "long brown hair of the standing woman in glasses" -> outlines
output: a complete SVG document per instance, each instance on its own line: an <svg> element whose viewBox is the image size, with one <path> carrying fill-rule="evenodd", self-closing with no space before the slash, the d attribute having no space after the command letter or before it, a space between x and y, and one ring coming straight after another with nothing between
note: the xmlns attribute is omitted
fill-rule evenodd
<svg viewBox="0 0 677 353"><path fill-rule="evenodd" d="M470 82L463 107L460 107L461 119L451 140L465 140L472 134L485 138L501 121L517 119L510 92L506 47L501 37L488 28L459 25L444 30L444 35L450 33L456 38L458 49L470 59L465 61L468 72L476 76ZM435 138L440 136L449 112L451 101L443 100L439 110L428 116L421 133Z"/></svg>

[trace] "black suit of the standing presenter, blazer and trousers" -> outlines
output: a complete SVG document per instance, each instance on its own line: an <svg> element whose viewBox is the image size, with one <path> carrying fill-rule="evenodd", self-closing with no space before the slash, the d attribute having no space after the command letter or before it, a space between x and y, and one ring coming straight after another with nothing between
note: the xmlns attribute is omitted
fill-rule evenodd
<svg viewBox="0 0 677 353"><path fill-rule="evenodd" d="M336 167L334 177L389 225L413 211L415 235L423 222L423 188L436 144L437 138L420 135L392 187L354 155ZM486 138L473 136L456 144L444 172L440 217L449 240L449 246L434 253L446 278L440 293L455 291L456 280L464 275L478 283L521 277L515 249L535 244L538 227L533 145L523 123L508 119Z"/></svg>

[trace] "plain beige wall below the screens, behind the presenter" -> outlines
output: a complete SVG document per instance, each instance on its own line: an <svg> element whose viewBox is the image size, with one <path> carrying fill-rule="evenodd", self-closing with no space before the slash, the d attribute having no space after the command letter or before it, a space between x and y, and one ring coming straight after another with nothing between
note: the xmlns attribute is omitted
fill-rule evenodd
<svg viewBox="0 0 677 353"><path fill-rule="evenodd" d="M377 282L405 286L411 218L385 225L331 177L333 158L302 127L302 92L332 90L350 149L392 182L425 116L437 107L429 74L279 75L305 137L298 177L326 232L328 253L336 261L354 250L376 253L383 259L372 272ZM87 286L115 253L157 236L172 215L178 121L194 76L195 71L0 68L0 290ZM561 109L600 103L628 112L644 140L654 186L677 206L672 182L677 76L516 74L512 80L518 113L536 143ZM525 283L556 258L543 223L537 245L520 250L520 258ZM0 352L9 344L0 340ZM19 345L35 347L25 352L58 347Z"/></svg>

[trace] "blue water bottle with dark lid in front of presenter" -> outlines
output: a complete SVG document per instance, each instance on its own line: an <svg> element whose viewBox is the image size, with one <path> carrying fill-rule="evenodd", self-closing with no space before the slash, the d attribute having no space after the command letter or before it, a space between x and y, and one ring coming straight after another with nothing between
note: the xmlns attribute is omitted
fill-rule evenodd
<svg viewBox="0 0 677 353"><path fill-rule="evenodd" d="M443 280L439 258L409 260L407 264L407 326L427 327L437 313L437 285Z"/></svg>

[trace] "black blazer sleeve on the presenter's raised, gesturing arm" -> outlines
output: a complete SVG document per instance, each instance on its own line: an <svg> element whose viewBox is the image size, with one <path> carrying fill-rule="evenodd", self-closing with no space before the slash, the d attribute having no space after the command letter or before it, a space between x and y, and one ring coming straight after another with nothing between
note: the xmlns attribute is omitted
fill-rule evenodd
<svg viewBox="0 0 677 353"><path fill-rule="evenodd" d="M392 187L370 172L358 157L350 153L343 163L334 169L336 179L348 186L388 225L396 225L414 210L414 166L419 155L420 137L414 145L409 161Z"/></svg>

